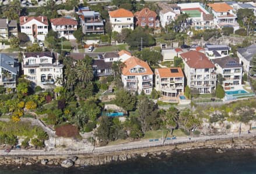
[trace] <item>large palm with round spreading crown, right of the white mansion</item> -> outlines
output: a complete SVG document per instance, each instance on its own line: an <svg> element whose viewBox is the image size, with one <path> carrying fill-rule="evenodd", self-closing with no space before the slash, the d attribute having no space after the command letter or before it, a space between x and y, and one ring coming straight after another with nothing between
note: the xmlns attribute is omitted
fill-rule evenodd
<svg viewBox="0 0 256 174"><path fill-rule="evenodd" d="M93 79L92 65L87 63L85 60L78 61L78 66L76 67L76 75L80 81L91 81Z"/></svg>

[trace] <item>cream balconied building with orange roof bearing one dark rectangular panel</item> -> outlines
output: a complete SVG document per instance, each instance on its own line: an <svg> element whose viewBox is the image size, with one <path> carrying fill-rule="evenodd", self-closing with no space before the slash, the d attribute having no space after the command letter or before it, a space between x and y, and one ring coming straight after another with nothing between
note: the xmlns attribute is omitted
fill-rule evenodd
<svg viewBox="0 0 256 174"><path fill-rule="evenodd" d="M181 68L156 68L155 89L163 97L177 97L184 93L184 74Z"/></svg>

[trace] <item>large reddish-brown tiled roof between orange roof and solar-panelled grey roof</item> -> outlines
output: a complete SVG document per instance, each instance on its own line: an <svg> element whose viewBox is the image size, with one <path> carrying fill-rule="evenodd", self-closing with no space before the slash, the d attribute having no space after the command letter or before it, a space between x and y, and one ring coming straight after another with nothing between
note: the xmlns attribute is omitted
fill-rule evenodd
<svg viewBox="0 0 256 174"><path fill-rule="evenodd" d="M204 69L215 67L212 61L210 61L204 53L196 50L181 53L180 56L190 68Z"/></svg>

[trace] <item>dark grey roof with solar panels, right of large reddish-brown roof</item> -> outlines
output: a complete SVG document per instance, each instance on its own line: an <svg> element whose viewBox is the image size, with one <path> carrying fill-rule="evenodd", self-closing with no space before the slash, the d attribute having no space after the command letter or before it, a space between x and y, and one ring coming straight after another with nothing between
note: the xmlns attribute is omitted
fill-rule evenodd
<svg viewBox="0 0 256 174"><path fill-rule="evenodd" d="M212 60L214 64L218 64L222 68L241 68L243 67L239 64L239 61L234 59L233 57L226 56L219 59Z"/></svg>

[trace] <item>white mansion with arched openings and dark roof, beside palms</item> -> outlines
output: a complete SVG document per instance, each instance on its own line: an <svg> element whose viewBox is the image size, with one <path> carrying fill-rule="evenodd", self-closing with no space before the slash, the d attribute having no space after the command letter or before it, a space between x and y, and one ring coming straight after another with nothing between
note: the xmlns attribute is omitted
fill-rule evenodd
<svg viewBox="0 0 256 174"><path fill-rule="evenodd" d="M55 61L55 62L54 62ZM23 74L37 86L61 85L63 64L55 60L52 52L31 52L23 55Z"/></svg>

